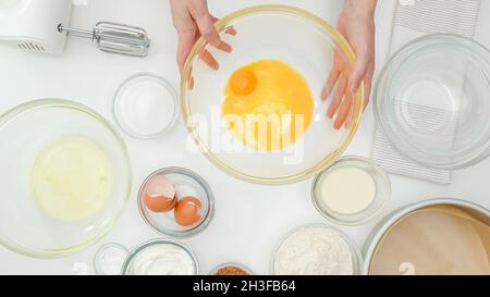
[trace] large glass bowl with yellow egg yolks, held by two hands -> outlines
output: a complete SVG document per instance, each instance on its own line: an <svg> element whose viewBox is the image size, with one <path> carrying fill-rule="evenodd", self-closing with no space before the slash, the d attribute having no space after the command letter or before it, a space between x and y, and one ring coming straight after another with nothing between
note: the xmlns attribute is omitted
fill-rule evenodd
<svg viewBox="0 0 490 297"><path fill-rule="evenodd" d="M321 94L329 77L339 70L341 82L355 61L342 35L286 5L245 9L216 26L232 51L201 38L182 75L182 110L193 140L187 149L258 184L305 180L335 161L357 129L364 102L363 87L345 91L342 107L327 115L332 98ZM338 83L331 97L341 88ZM348 124L339 127L345 109Z"/></svg>

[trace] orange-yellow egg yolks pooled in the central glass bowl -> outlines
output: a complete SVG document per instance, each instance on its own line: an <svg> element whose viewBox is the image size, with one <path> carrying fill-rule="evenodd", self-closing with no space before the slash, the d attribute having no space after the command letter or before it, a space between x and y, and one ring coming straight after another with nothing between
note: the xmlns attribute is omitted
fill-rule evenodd
<svg viewBox="0 0 490 297"><path fill-rule="evenodd" d="M222 112L230 131L256 150L287 147L311 123L314 100L308 84L279 60L259 60L236 70L224 96Z"/></svg>

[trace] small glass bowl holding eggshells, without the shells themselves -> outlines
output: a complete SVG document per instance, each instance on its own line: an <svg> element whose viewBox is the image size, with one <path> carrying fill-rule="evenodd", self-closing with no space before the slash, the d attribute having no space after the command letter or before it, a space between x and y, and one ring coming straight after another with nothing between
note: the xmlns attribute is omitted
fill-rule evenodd
<svg viewBox="0 0 490 297"><path fill-rule="evenodd" d="M186 196L198 198L203 206L201 220L191 226L181 226L175 222L173 211L152 212L143 199L143 193L147 182L155 175L163 175L174 184L177 199ZM143 182L138 194L138 209L145 222L155 231L179 238L191 237L203 232L215 216L215 197L208 183L198 174L183 168L166 168L151 173Z"/></svg>

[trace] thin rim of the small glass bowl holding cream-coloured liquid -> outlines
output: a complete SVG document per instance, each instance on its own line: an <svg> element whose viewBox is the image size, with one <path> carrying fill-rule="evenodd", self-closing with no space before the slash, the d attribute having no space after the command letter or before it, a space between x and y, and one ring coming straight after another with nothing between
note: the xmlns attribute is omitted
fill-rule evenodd
<svg viewBox="0 0 490 297"><path fill-rule="evenodd" d="M324 211L319 206L319 202L317 201L319 197L317 197L317 195L316 195L316 188L318 186L319 181L321 180L321 176L323 176L323 174L329 172L331 169L333 169L338 165L341 165L344 162L364 163L364 164L367 164L370 168L372 168L377 172L377 174L379 174L381 180L383 181L382 184L387 191L387 195L384 195L384 197L382 198L382 202L381 202L380 207L376 211L370 213L369 215L366 215L365 218L357 220L357 221L346 221L346 220L341 220L339 218L335 218L335 216L331 215L330 213L328 213L327 211ZM387 208L388 203L390 202L391 194L392 194L391 180L390 180L390 176L388 175L388 173L379 164L375 163L371 159L365 158L365 157L359 157L359 156L346 156L346 157L342 157L339 160L336 160L335 162L333 162L331 165L329 165L327 169L324 169L322 172L320 172L317 176L315 176L315 180L311 183L311 189L310 189L311 201L313 201L315 208L317 209L317 211L323 218L331 221L332 223L341 224L344 226L357 226L357 225L365 224L371 220L375 220L376 218L379 218L381 215L381 213L383 212L383 210ZM363 211L360 211L360 213L362 212Z"/></svg>

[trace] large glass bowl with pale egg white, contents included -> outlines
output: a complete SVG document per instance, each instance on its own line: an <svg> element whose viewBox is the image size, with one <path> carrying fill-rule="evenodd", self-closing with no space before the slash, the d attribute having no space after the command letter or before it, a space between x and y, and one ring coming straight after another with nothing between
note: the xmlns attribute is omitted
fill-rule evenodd
<svg viewBox="0 0 490 297"><path fill-rule="evenodd" d="M100 239L130 197L128 154L95 111L62 99L0 116L0 243L23 255L71 255Z"/></svg>

